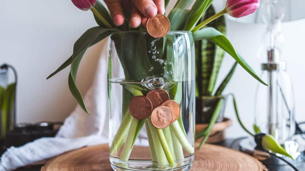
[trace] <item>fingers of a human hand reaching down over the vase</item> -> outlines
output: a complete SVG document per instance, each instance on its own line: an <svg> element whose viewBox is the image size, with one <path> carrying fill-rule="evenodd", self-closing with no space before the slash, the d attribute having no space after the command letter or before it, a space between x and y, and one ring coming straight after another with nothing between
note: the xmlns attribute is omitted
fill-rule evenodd
<svg viewBox="0 0 305 171"><path fill-rule="evenodd" d="M116 26L124 23L123 9L131 11L129 22L133 28L139 27L141 23L145 27L148 17L165 12L164 0L104 0L104 2Z"/></svg>

